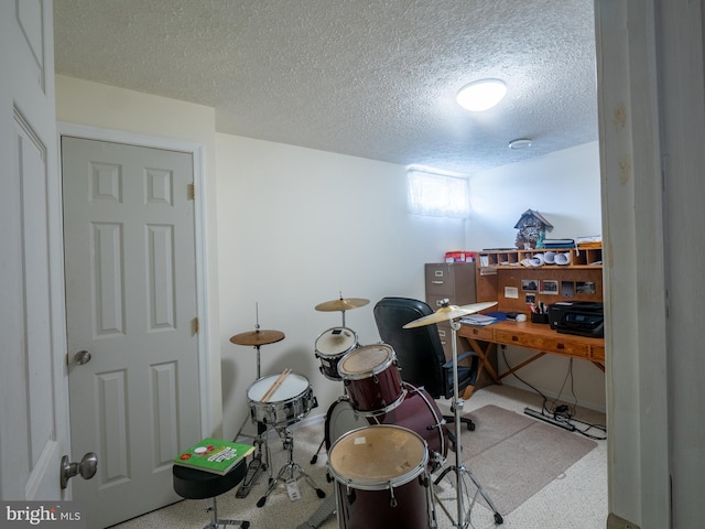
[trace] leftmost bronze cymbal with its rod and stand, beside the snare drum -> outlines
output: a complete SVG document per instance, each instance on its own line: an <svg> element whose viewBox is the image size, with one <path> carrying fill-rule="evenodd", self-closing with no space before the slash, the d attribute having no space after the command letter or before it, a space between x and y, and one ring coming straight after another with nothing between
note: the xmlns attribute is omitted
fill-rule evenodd
<svg viewBox="0 0 705 529"><path fill-rule="evenodd" d="M254 331L249 331L246 333L236 334L230 337L230 342L235 345L245 345L252 346L257 350L257 379L259 380L261 377L261 364L260 364L260 347L262 345L274 344L276 342L281 342L284 339L284 333L281 331L272 331L272 330L261 330L260 321L259 321L259 306L254 303ZM238 433L235 435L234 441L237 441L241 433L242 429L248 422L248 417L246 415L242 420L242 424L240 424L240 429ZM270 479L272 477L272 469L268 468L270 460L270 450L267 444L267 424L257 423L257 434L252 436L253 443L256 446L254 455L252 455L252 460L250 461L247 473L245 475L245 479L242 479L242 485L238 488L236 493L236 497L245 498L250 493L252 485L256 483L259 474L269 469ZM262 456L264 456L264 462L262 461Z"/></svg>

